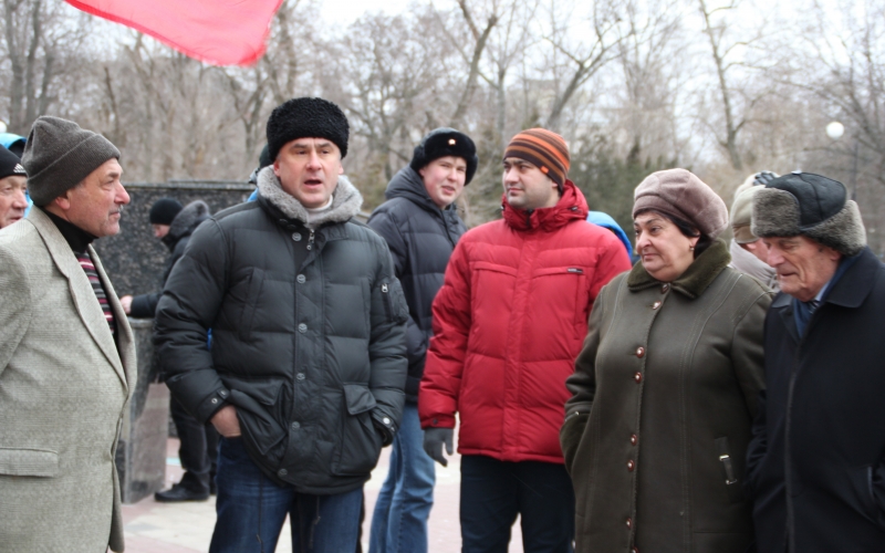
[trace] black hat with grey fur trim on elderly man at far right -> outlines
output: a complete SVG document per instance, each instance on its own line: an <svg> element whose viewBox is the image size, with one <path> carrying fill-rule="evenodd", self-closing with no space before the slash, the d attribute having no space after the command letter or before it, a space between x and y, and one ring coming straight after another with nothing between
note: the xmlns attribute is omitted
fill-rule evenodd
<svg viewBox="0 0 885 553"><path fill-rule="evenodd" d="M759 190L752 232L760 238L802 234L846 257L866 247L861 211L845 185L812 173L791 173Z"/></svg>

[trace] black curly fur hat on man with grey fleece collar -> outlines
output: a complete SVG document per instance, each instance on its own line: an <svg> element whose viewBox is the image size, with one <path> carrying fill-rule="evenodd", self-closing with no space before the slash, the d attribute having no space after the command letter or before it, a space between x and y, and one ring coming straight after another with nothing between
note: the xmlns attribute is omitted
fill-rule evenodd
<svg viewBox="0 0 885 553"><path fill-rule="evenodd" d="M295 138L327 138L347 155L350 125L344 112L323 98L292 98L278 105L268 117L268 153L271 161L288 142Z"/></svg>

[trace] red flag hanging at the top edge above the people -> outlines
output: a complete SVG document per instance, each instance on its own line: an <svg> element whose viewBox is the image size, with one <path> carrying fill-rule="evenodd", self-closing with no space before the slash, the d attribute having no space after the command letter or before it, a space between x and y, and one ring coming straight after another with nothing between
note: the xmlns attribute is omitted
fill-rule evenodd
<svg viewBox="0 0 885 553"><path fill-rule="evenodd" d="M249 65L264 53L270 20L282 0L66 0L123 23L190 58Z"/></svg>

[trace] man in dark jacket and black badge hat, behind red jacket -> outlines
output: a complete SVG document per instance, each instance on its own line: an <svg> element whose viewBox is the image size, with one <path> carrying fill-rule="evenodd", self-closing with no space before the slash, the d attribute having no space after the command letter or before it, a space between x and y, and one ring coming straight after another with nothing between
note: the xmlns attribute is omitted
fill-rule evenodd
<svg viewBox="0 0 885 553"><path fill-rule="evenodd" d="M418 421L418 383L431 335L430 306L442 285L449 255L466 228L455 200L477 170L473 140L437 128L415 147L412 163L387 185L368 226L384 237L403 282L409 317L408 378L403 424L394 438L391 471L372 518L369 553L427 551L427 518L434 504L434 461L424 451Z"/></svg>

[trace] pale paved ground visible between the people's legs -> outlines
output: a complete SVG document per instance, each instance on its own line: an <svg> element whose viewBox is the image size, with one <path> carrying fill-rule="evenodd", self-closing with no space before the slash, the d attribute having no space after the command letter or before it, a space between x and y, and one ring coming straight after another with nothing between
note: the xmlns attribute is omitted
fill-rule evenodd
<svg viewBox="0 0 885 553"><path fill-rule="evenodd" d="M178 465L178 440L169 439L166 467L167 487L181 478ZM366 522L363 526L363 550L367 551L371 513L375 505L384 478L387 476L389 448L384 448L372 480L365 486ZM458 497L460 486L460 459L456 455L449 466L437 466L437 484L434 510L430 513L430 552L458 553L461 550L458 525ZM215 526L215 498L204 502L158 503L153 497L134 505L123 507L126 531L126 553L195 553L209 550L209 540ZM289 525L283 529L277 547L278 553L291 553ZM510 553L522 551L519 523L513 528ZM270 552L269 552L270 553Z"/></svg>

